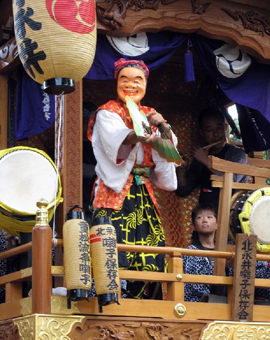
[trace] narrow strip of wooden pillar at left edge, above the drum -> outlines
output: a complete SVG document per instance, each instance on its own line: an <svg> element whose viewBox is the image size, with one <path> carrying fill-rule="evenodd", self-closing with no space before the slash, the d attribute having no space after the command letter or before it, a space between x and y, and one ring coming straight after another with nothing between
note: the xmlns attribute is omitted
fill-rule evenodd
<svg viewBox="0 0 270 340"><path fill-rule="evenodd" d="M8 136L8 76L0 74L0 150L7 148Z"/></svg>

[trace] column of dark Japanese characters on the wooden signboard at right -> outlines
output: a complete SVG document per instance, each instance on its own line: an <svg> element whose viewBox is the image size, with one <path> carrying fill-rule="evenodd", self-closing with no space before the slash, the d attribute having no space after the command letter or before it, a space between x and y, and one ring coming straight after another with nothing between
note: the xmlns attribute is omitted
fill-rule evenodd
<svg viewBox="0 0 270 340"><path fill-rule="evenodd" d="M239 293L239 320L246 320L249 313L248 307L251 300L250 294L250 280L251 280L251 269L252 269L252 248L249 239L242 242L242 265L240 271L240 293Z"/></svg>

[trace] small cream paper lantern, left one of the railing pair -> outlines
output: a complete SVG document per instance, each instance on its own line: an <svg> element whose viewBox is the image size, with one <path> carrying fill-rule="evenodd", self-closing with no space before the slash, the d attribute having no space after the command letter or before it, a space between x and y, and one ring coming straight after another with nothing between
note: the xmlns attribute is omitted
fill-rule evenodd
<svg viewBox="0 0 270 340"><path fill-rule="evenodd" d="M79 209L79 210L78 210ZM89 225L79 206L72 207L63 226L64 266L68 308L71 301L88 299L91 288Z"/></svg>

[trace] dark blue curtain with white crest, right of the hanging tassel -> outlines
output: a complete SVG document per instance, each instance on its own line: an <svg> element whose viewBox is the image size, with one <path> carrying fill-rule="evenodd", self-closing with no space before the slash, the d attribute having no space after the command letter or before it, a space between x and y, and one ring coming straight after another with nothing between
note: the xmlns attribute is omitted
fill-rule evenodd
<svg viewBox="0 0 270 340"><path fill-rule="evenodd" d="M270 66L224 41L192 35L198 56L239 112L246 152L270 148Z"/></svg>

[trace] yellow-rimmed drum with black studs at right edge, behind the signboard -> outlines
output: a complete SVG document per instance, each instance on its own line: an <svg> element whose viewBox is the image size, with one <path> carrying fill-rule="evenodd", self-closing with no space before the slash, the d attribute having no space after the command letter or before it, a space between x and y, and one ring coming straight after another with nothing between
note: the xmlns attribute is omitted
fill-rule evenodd
<svg viewBox="0 0 270 340"><path fill-rule="evenodd" d="M245 234L257 235L257 249L270 252L270 187L253 191L239 214Z"/></svg>

